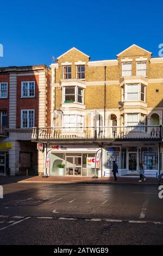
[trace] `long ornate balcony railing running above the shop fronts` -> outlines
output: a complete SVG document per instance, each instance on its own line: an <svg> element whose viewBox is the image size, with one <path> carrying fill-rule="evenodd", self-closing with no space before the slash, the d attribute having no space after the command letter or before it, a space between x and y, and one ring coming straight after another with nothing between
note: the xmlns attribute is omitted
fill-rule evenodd
<svg viewBox="0 0 163 256"><path fill-rule="evenodd" d="M162 140L162 126L34 127L32 141L153 139Z"/></svg>

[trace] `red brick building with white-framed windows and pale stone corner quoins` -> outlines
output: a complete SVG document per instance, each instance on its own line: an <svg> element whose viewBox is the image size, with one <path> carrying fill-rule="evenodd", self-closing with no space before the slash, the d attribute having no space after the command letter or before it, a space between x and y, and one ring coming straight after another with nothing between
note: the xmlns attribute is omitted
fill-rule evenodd
<svg viewBox="0 0 163 256"><path fill-rule="evenodd" d="M0 68L0 175L34 172L32 127L51 122L50 83L46 65Z"/></svg>

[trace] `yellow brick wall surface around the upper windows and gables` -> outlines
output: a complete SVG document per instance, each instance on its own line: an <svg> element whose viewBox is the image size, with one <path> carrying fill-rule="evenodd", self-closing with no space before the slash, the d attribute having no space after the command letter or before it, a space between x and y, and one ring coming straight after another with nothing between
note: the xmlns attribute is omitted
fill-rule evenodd
<svg viewBox="0 0 163 256"><path fill-rule="evenodd" d="M122 76L122 58L132 58L132 75L136 76L136 58L147 58L147 76L148 79L163 78L163 63L155 64L150 63L151 54L145 52L137 47L132 47L126 52L118 56L118 65L106 66L106 81L118 81ZM82 61L88 62L89 57L73 49L64 56L58 59L59 69L57 72L57 83L62 79L62 66L61 63L72 63L72 79L76 78L75 62ZM89 81L104 81L104 66L87 66L85 65L85 80ZM147 107L163 107L163 84L162 83L148 83L146 88L146 102ZM159 93L155 90L159 89ZM106 109L118 108L118 101L121 101L121 88L119 85L106 85ZM86 109L103 109L104 108L104 86L87 86L84 92L84 104ZM55 107L61 106L61 89L56 88L56 101Z"/></svg>

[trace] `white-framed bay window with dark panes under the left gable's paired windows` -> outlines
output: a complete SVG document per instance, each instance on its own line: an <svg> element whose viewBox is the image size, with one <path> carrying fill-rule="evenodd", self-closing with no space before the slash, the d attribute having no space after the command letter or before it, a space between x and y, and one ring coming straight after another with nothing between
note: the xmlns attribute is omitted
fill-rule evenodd
<svg viewBox="0 0 163 256"><path fill-rule="evenodd" d="M83 88L78 86L64 87L64 103L83 103Z"/></svg>

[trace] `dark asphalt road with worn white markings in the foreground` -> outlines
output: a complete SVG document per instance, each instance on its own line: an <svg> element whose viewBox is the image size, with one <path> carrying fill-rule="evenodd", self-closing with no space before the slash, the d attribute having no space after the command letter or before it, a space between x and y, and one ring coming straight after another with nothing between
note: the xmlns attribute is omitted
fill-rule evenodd
<svg viewBox="0 0 163 256"><path fill-rule="evenodd" d="M5 184L1 245L162 245L156 185Z"/></svg>

